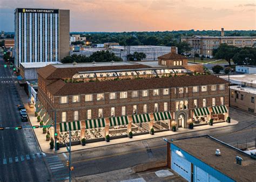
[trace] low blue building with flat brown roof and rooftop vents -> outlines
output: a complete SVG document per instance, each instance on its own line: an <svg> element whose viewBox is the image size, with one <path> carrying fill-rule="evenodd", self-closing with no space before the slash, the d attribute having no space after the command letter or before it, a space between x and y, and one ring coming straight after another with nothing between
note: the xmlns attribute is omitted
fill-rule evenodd
<svg viewBox="0 0 256 182"><path fill-rule="evenodd" d="M167 165L187 181L255 181L255 154L211 136L167 142Z"/></svg>

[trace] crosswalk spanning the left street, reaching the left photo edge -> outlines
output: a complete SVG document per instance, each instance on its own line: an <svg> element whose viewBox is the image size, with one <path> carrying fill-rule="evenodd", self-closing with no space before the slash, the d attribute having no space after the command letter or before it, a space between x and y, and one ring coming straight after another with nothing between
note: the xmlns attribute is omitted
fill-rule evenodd
<svg viewBox="0 0 256 182"><path fill-rule="evenodd" d="M46 154L44 152L38 152L38 153L33 153L33 154L27 154L27 155L21 155L21 156L15 156L15 157L6 157L2 159L2 162L0 163L5 165L5 164L13 164L13 163L19 163L19 162L24 162L25 160L30 160L32 159L37 159L37 158L42 158L46 157Z"/></svg>

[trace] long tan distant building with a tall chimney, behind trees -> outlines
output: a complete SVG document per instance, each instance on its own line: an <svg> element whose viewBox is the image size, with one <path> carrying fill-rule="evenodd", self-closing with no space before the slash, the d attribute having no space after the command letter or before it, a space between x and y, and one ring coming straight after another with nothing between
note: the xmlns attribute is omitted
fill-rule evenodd
<svg viewBox="0 0 256 182"><path fill-rule="evenodd" d="M212 36L192 36L181 37L181 41L185 41L192 47L192 54L204 55L204 57L213 58L213 51L220 44L233 45L237 47L254 47L256 46L256 37L224 37L224 29L221 29L221 37Z"/></svg>

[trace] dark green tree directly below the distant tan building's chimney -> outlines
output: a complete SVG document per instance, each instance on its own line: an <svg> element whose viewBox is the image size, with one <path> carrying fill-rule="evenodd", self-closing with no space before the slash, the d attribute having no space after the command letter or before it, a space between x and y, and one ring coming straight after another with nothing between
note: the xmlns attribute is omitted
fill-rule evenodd
<svg viewBox="0 0 256 182"><path fill-rule="evenodd" d="M217 48L217 52L215 53L215 58L225 59L228 64L231 65L231 59L234 57L238 50L238 47L227 44L220 44L220 46Z"/></svg>

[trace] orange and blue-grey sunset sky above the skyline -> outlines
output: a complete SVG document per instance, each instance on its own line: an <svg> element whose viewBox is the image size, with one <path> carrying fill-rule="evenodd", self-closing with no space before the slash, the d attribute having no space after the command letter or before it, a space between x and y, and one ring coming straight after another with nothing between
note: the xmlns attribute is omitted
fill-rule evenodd
<svg viewBox="0 0 256 182"><path fill-rule="evenodd" d="M70 31L256 30L256 0L1 0L0 30L15 8L70 9Z"/></svg>

